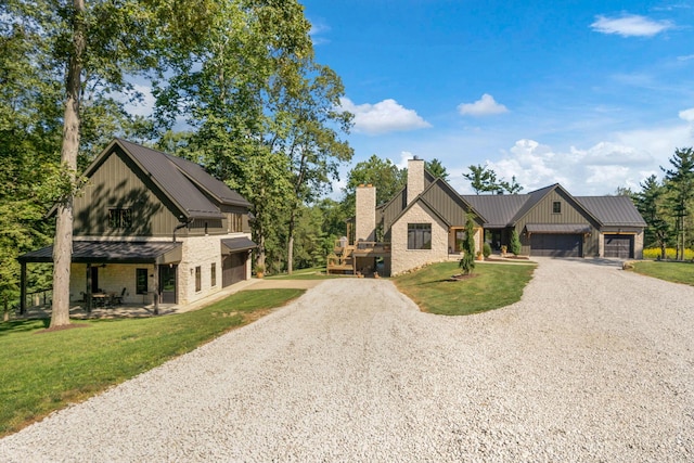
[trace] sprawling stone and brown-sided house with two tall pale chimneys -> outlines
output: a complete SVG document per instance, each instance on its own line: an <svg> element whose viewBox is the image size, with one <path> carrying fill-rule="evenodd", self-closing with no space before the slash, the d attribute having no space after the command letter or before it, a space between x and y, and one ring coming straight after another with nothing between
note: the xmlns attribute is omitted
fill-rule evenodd
<svg viewBox="0 0 694 463"><path fill-rule="evenodd" d="M645 221L626 196L573 196L558 183L528 194L460 195L417 158L408 162L407 187L386 204L376 207L371 185L356 193L351 236L336 244L329 272L397 275L460 259L468 217L476 253L485 241L510 246L515 230L529 256L643 256Z"/></svg>

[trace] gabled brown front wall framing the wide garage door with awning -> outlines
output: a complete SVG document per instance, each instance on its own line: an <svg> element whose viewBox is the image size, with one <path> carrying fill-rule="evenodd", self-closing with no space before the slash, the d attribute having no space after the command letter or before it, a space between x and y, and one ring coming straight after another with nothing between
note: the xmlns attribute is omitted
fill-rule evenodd
<svg viewBox="0 0 694 463"><path fill-rule="evenodd" d="M562 211L553 213L553 204L560 202ZM599 254L599 231L597 223L586 214L574 198L564 194L561 190L554 190L543 197L532 207L528 214L516 222L516 231L520 237L522 249L524 255L530 254L530 236L524 235L523 231L528 223L570 223L584 224L590 227L590 236L583 236L583 257L596 256Z"/></svg>

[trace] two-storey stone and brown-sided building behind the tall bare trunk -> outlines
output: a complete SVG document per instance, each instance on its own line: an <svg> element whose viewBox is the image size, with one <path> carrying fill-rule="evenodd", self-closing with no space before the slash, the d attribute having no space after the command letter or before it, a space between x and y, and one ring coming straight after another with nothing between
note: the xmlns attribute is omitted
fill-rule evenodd
<svg viewBox="0 0 694 463"><path fill-rule="evenodd" d="M250 204L197 164L116 139L83 177L70 300L90 308L111 293L125 304L188 304L250 278ZM20 256L22 275L52 252Z"/></svg>

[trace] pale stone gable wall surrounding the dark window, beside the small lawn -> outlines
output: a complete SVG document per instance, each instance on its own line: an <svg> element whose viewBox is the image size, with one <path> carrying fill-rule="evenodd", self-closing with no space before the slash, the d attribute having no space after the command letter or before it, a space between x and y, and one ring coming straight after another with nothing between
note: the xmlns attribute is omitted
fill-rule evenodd
<svg viewBox="0 0 694 463"><path fill-rule="evenodd" d="M432 248L408 249L408 223L432 223ZM398 275L425 263L448 260L448 227L432 217L420 204L412 206L393 224L390 274Z"/></svg>

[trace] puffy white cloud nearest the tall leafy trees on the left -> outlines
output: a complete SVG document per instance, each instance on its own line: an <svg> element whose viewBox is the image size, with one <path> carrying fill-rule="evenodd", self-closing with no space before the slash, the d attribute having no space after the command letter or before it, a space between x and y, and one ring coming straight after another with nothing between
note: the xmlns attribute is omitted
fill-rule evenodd
<svg viewBox="0 0 694 463"><path fill-rule="evenodd" d="M340 107L355 115L355 131L377 134L432 127L414 110L408 110L388 99L376 104L355 104L348 98L339 100Z"/></svg>

